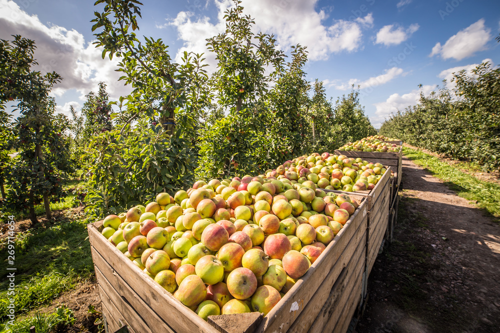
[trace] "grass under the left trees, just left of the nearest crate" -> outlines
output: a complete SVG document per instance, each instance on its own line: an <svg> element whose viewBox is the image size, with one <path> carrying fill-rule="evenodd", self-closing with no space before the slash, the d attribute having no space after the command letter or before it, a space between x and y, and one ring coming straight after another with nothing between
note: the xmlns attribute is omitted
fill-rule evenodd
<svg viewBox="0 0 500 333"><path fill-rule="evenodd" d="M6 240L0 242L0 320L6 319L8 271L15 267L15 313L49 304L92 275L90 244L82 220L62 218L47 229L38 227L18 233L15 264L7 263ZM38 331L37 331L38 332Z"/></svg>

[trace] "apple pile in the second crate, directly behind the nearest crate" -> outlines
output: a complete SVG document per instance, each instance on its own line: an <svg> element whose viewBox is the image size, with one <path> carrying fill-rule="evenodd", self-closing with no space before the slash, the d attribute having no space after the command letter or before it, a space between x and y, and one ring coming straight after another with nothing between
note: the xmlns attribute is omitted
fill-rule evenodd
<svg viewBox="0 0 500 333"><path fill-rule="evenodd" d="M295 189L310 181L321 189L356 192L371 191L385 171L380 163L325 152L286 161L274 170L267 170L266 176L295 182L292 185Z"/></svg>

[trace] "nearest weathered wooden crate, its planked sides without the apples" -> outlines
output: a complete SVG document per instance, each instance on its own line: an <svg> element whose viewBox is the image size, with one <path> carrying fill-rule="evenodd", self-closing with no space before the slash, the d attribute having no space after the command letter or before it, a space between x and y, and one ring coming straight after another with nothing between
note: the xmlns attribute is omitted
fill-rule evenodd
<svg viewBox="0 0 500 333"><path fill-rule="evenodd" d="M254 332L296 332L294 327L305 328L312 324L321 332L346 331L351 313L361 299L360 277L366 267L367 216L366 200L362 200L321 256L262 318ZM102 221L89 224L87 230L102 311L111 331L117 330L121 321L130 332L136 333L219 332L156 284L100 235ZM329 302L329 295L337 301ZM321 310L324 311L320 313ZM334 314L341 316L332 317ZM314 318L325 323L324 330L310 320Z"/></svg>

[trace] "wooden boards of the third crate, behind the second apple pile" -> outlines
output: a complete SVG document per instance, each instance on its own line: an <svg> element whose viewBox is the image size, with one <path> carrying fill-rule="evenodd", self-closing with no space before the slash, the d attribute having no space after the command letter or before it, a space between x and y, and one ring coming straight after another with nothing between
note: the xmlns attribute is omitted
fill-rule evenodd
<svg viewBox="0 0 500 333"><path fill-rule="evenodd" d="M394 177L391 180L391 197L394 197L399 190L399 185L402 179L402 156L403 150L401 149L398 153L379 153L379 152L367 152L367 151L343 151L335 150L336 155L345 155L347 157L362 158L368 162L381 163L383 166L390 166L394 171Z"/></svg>

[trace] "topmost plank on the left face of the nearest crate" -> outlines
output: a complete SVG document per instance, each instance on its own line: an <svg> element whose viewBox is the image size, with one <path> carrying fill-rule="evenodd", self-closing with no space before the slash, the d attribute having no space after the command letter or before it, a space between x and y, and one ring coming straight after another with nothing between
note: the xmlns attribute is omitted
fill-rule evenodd
<svg viewBox="0 0 500 333"><path fill-rule="evenodd" d="M98 226L98 224L97 224ZM89 225L88 236L90 244L97 252L106 258L109 266L129 285L134 286L135 293L166 322L175 332L210 332L218 331L198 317L164 290L154 280L142 272L111 245L94 225Z"/></svg>

